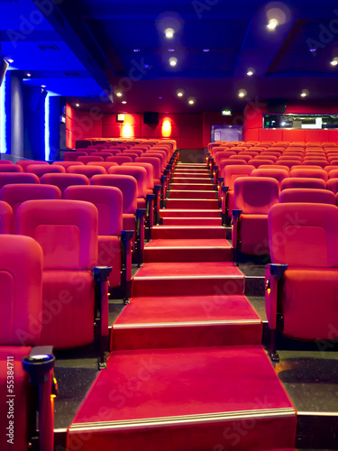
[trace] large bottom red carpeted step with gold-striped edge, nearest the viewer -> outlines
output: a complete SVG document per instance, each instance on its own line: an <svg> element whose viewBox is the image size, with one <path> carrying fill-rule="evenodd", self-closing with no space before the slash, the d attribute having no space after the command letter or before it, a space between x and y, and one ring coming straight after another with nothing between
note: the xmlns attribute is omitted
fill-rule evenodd
<svg viewBox="0 0 338 451"><path fill-rule="evenodd" d="M67 450L285 450L296 427L260 345L119 351L82 402Z"/></svg>

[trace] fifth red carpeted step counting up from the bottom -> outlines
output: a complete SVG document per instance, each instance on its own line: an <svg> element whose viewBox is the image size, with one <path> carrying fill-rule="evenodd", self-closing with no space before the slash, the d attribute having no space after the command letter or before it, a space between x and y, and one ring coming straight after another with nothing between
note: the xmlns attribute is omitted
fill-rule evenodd
<svg viewBox="0 0 338 451"><path fill-rule="evenodd" d="M225 240L223 226L153 226L153 240Z"/></svg>

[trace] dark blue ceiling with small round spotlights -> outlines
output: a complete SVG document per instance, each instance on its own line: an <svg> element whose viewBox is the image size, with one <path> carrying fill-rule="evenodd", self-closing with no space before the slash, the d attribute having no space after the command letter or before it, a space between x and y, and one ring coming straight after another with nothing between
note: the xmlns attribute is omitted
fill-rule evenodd
<svg viewBox="0 0 338 451"><path fill-rule="evenodd" d="M43 9L44 4L53 7ZM43 83L83 108L103 97L109 111L241 109L248 101L271 97L299 100L302 89L309 90L306 101L338 101L338 66L330 64L338 57L338 5L333 1L44 4L0 0L2 55L13 58L12 69L32 73L26 83ZM271 18L279 20L274 31L266 27ZM164 36L169 27L175 30L171 40ZM56 45L57 51L41 51L46 44ZM310 52L311 47L316 51ZM177 66L169 65L171 57ZM252 77L246 75L249 68ZM112 87L121 88L123 97L114 97L110 106L105 93ZM184 97L176 96L178 88ZM239 89L247 96L240 99ZM187 105L187 97L196 98L194 106Z"/></svg>

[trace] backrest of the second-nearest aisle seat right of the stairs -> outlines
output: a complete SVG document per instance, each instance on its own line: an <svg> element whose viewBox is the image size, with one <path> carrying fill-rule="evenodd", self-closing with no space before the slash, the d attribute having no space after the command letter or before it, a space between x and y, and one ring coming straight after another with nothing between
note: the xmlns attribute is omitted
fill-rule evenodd
<svg viewBox="0 0 338 451"><path fill-rule="evenodd" d="M279 202L279 182L268 177L236 179L233 185L234 205L246 215L267 215Z"/></svg>

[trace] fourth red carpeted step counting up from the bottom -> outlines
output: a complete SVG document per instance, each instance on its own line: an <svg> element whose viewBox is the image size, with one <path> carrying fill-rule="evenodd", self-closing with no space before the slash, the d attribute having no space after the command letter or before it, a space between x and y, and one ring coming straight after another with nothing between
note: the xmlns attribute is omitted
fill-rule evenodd
<svg viewBox="0 0 338 451"><path fill-rule="evenodd" d="M144 262L233 262L233 247L226 240L153 240Z"/></svg>

